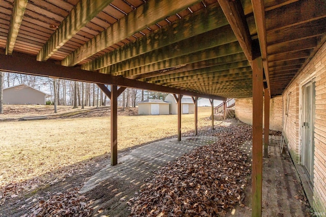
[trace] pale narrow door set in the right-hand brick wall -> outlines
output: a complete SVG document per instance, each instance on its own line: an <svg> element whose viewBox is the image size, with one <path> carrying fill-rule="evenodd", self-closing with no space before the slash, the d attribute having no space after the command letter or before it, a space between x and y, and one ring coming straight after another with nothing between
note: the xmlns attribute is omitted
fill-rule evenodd
<svg viewBox="0 0 326 217"><path fill-rule="evenodd" d="M315 83L309 82L303 86L302 108L302 164L313 181L314 171L314 114L315 114Z"/></svg>

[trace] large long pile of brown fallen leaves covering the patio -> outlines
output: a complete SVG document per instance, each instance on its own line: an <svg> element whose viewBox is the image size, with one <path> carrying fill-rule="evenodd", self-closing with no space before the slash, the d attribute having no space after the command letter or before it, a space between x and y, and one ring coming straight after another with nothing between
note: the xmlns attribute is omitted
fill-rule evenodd
<svg viewBox="0 0 326 217"><path fill-rule="evenodd" d="M216 129L219 142L193 149L146 180L128 202L130 216L216 216L237 203L244 206L251 171L238 145L251 139L251 127L228 128Z"/></svg>

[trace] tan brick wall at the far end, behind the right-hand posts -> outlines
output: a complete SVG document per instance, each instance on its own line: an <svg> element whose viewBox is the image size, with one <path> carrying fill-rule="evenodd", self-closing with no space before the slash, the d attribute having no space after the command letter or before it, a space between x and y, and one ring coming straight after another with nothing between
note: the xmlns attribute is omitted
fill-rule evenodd
<svg viewBox="0 0 326 217"><path fill-rule="evenodd" d="M235 100L235 117L244 123L253 123L253 98ZM282 97L277 96L269 102L269 129L282 131Z"/></svg>

